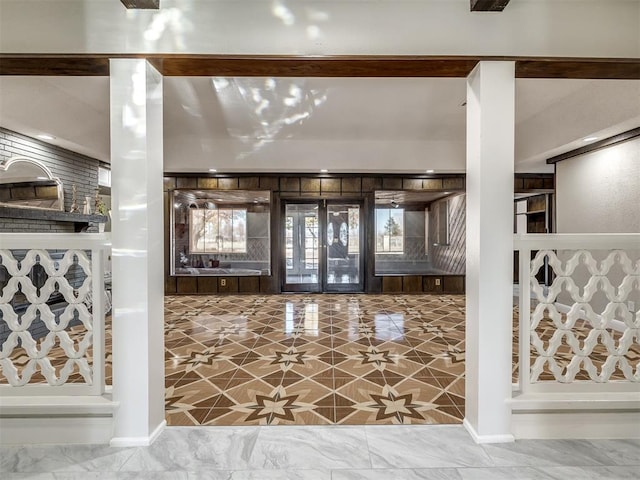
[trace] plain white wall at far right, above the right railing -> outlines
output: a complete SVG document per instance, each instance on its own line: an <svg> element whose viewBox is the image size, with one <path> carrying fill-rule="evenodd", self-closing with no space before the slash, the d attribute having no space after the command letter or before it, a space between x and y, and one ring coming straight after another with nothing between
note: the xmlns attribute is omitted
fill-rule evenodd
<svg viewBox="0 0 640 480"><path fill-rule="evenodd" d="M640 233L640 138L556 165L558 233Z"/></svg>

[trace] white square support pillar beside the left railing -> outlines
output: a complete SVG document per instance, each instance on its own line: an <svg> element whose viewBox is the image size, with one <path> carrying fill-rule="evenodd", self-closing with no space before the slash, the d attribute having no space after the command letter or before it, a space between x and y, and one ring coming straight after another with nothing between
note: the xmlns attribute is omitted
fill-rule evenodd
<svg viewBox="0 0 640 480"><path fill-rule="evenodd" d="M162 76L111 69L114 446L148 445L164 420Z"/></svg>

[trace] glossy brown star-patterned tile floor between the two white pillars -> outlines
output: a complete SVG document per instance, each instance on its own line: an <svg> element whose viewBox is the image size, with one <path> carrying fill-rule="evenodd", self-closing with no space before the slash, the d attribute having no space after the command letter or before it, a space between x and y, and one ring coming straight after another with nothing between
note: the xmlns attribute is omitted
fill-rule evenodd
<svg viewBox="0 0 640 480"><path fill-rule="evenodd" d="M460 423L464 296L172 296L169 425Z"/></svg>

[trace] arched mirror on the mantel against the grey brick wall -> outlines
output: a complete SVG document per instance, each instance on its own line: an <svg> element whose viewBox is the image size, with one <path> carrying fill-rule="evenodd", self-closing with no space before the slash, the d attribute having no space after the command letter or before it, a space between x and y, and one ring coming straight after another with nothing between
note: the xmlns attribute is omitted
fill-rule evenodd
<svg viewBox="0 0 640 480"><path fill-rule="evenodd" d="M0 205L64 211L62 182L36 160L11 158L0 165Z"/></svg>

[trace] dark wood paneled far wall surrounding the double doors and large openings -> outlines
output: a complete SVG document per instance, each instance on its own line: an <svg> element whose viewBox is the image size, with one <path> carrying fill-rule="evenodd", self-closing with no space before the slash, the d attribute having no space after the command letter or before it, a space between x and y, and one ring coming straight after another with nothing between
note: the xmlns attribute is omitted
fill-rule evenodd
<svg viewBox="0 0 640 480"><path fill-rule="evenodd" d="M251 277L177 277L169 275L171 191L174 189L269 190L271 203L271 275ZM514 190L553 192L553 174L516 174ZM367 232L365 252L375 251L374 192L376 190L465 191L465 176L455 175L197 175L168 173L165 189L165 291L168 294L278 293L281 289L280 205L281 199L361 198L364 199ZM451 219L450 239L464 249L464 212ZM457 227L456 227L457 225ZM369 293L464 293L464 275L374 274L374 255L366 254L365 291ZM225 285L222 280L225 279Z"/></svg>

